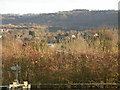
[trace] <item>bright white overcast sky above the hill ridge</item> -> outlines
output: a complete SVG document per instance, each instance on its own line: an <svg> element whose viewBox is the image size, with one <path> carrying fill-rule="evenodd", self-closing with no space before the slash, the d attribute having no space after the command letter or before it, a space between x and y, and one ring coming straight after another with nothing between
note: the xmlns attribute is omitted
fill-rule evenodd
<svg viewBox="0 0 120 90"><path fill-rule="evenodd" d="M118 10L119 0L0 0L1 14L53 13L73 9Z"/></svg>

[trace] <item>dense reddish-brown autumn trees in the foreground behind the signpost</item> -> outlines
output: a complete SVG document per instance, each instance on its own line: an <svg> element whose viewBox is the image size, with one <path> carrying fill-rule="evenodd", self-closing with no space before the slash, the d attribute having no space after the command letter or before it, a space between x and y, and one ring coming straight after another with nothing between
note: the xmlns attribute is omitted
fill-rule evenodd
<svg viewBox="0 0 120 90"><path fill-rule="evenodd" d="M23 43L3 41L3 84L15 79L11 66L18 64L19 80L39 83L118 82L117 31L89 31L82 37L63 43L63 50L52 50L44 40ZM99 37L93 39L95 33ZM116 36L116 37L115 37ZM54 48L53 48L54 49Z"/></svg>

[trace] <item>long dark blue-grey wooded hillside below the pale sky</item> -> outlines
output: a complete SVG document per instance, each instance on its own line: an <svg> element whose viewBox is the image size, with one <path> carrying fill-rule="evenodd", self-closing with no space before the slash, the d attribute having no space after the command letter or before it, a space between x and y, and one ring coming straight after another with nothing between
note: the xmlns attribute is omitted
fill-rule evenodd
<svg viewBox="0 0 120 90"><path fill-rule="evenodd" d="M49 26L50 30L85 30L100 26L117 26L117 11L89 11L76 9L45 14L3 14L3 24Z"/></svg>

